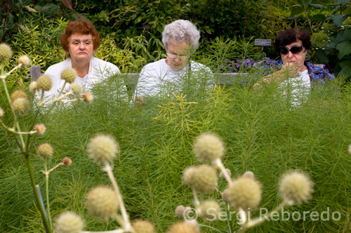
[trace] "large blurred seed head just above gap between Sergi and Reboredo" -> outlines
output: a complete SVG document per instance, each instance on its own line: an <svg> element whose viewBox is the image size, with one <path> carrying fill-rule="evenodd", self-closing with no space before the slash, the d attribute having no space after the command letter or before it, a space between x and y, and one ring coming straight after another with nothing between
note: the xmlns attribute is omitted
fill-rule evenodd
<svg viewBox="0 0 351 233"><path fill-rule="evenodd" d="M253 209L260 204L262 189L257 180L241 176L233 180L222 196L234 208Z"/></svg>

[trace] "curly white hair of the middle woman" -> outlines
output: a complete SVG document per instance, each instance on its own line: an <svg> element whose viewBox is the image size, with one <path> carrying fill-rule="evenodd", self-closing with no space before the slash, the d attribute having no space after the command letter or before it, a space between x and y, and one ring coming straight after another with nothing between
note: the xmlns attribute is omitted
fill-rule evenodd
<svg viewBox="0 0 351 233"><path fill-rule="evenodd" d="M168 49L168 43L174 41L187 41L190 45L190 53L194 53L199 45L200 32L189 20L176 20L164 27L162 43Z"/></svg>

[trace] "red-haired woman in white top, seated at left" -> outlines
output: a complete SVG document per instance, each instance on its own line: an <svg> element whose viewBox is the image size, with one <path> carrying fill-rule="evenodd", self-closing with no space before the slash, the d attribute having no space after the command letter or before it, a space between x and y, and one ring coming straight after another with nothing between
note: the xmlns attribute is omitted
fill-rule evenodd
<svg viewBox="0 0 351 233"><path fill-rule="evenodd" d="M65 69L73 68L77 73L74 82L81 84L86 90L93 84L120 73L116 65L93 57L100 46L100 35L88 20L68 22L65 32L60 36L60 44L69 58L46 69L45 74L53 80L53 88L46 91L45 96L58 95L65 83L60 78Z"/></svg>

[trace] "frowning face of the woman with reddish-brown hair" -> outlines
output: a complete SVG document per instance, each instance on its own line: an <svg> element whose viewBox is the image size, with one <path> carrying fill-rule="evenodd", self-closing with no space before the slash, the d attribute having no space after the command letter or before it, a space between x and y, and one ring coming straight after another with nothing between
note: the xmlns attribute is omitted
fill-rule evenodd
<svg viewBox="0 0 351 233"><path fill-rule="evenodd" d="M69 36L68 52L74 61L91 60L95 53L91 34L72 34Z"/></svg>

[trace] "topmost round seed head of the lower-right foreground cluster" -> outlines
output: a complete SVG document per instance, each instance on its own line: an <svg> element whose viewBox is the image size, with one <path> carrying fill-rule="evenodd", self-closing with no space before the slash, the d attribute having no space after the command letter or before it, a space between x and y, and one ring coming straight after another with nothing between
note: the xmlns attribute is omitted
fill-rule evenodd
<svg viewBox="0 0 351 233"><path fill-rule="evenodd" d="M217 135L204 133L194 143L194 154L201 161L213 161L223 156L224 143Z"/></svg>

